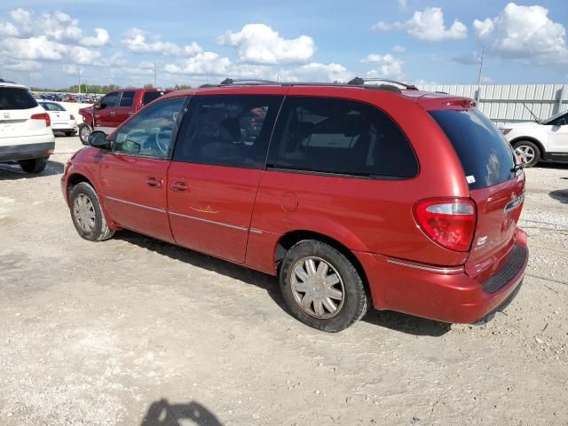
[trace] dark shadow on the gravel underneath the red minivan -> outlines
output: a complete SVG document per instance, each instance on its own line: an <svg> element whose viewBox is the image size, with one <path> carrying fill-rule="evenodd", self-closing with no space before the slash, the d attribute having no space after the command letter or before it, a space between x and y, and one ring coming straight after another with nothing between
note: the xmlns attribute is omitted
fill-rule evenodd
<svg viewBox="0 0 568 426"><path fill-rule="evenodd" d="M130 231L116 233L114 239L128 241L131 244L136 244L138 247L146 248L162 256L169 256L186 264L192 264L198 268L217 272L234 280L241 280L258 288L263 288L274 303L278 304L283 311L288 312L286 304L284 304L284 300L280 295L278 279L272 277L272 275L253 271L238 264L232 264L216 257L203 255L190 249L154 240L151 237ZM449 324L391 311L379 312L371 309L362 320L369 324L390 328L393 331L408 335L431 335L437 337L450 331Z"/></svg>

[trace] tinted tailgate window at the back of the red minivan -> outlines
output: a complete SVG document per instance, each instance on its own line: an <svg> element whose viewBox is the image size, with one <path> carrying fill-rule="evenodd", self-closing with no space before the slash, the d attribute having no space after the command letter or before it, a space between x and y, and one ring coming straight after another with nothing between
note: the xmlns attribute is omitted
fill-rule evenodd
<svg viewBox="0 0 568 426"><path fill-rule="evenodd" d="M470 189L498 185L513 176L513 149L484 114L447 109L430 115L454 146Z"/></svg>

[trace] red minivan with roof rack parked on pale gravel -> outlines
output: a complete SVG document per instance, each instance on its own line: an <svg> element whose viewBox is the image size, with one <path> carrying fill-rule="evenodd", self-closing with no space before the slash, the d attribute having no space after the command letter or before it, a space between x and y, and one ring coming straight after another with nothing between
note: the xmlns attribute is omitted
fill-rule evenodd
<svg viewBox="0 0 568 426"><path fill-rule="evenodd" d="M371 304L476 322L528 261L507 141L471 99L401 83L176 91L93 132L61 185L83 238L130 229L279 275L329 332Z"/></svg>

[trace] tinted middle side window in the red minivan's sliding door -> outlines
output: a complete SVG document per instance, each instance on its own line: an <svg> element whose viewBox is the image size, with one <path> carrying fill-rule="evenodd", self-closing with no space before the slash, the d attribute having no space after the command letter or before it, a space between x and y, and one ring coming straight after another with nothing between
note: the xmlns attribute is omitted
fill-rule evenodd
<svg viewBox="0 0 568 426"><path fill-rule="evenodd" d="M177 137L174 161L263 169L281 96L196 96Z"/></svg>

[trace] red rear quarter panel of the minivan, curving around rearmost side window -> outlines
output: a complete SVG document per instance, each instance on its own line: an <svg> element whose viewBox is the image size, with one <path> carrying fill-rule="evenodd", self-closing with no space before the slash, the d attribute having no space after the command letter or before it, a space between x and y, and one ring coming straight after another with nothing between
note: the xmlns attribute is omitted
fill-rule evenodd
<svg viewBox="0 0 568 426"><path fill-rule="evenodd" d="M292 87L288 96L292 95L321 96L322 92L321 88ZM398 122L414 147L418 176L375 180L267 170L256 197L252 228L272 235L312 231L351 250L426 264L464 264L467 253L430 241L413 216L418 200L469 197L461 164L438 124L414 101L390 92L351 88L334 90L333 95L378 106ZM251 242L256 240L261 237L251 236ZM274 249L270 249L272 259Z"/></svg>

